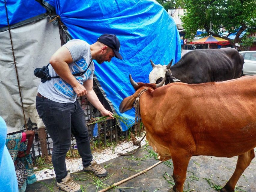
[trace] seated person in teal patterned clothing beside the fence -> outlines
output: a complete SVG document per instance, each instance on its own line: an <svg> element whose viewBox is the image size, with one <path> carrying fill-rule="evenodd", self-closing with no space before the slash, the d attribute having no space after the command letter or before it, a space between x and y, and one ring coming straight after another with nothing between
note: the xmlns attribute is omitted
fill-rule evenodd
<svg viewBox="0 0 256 192"><path fill-rule="evenodd" d="M36 182L36 177L33 172L32 158L29 154L34 136L35 131L7 135L5 145L14 161L19 192L24 192L27 184ZM25 144L26 139L28 139L27 145Z"/></svg>

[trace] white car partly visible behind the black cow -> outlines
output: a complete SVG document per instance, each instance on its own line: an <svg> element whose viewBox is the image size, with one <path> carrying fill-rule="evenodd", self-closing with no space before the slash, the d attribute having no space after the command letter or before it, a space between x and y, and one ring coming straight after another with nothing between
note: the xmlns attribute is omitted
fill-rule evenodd
<svg viewBox="0 0 256 192"><path fill-rule="evenodd" d="M240 51L244 57L243 75L256 75L256 51Z"/></svg>

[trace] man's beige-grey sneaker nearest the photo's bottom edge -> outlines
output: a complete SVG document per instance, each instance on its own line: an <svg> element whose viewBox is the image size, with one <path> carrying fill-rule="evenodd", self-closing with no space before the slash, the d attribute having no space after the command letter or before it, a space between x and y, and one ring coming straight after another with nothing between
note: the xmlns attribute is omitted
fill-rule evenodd
<svg viewBox="0 0 256 192"><path fill-rule="evenodd" d="M74 182L71 179L69 173L65 178L62 179L62 182L60 182L60 183L57 182L57 187L59 187L61 190L64 190L66 192L80 192L81 191L80 184Z"/></svg>

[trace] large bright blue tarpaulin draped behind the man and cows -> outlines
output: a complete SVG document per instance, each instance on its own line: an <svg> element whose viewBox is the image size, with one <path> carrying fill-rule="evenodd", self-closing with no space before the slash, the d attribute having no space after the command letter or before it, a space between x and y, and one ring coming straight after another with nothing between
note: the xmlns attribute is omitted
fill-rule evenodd
<svg viewBox="0 0 256 192"><path fill-rule="evenodd" d="M2 21L6 17L2 10L3 0L0 2L0 26L6 26ZM20 0L19 6L14 6L14 2L17 1L7 1L11 24L46 12L34 0ZM113 58L110 63L101 65L95 61L95 80L113 113L134 121L134 109L123 114L119 112L123 98L134 93L129 74L137 82L149 82L150 59L155 64L168 64L171 59L173 64L179 61L181 41L173 19L153 0L45 0L44 4L55 9L74 39L92 44L104 33L115 34L119 38L120 53L124 59ZM123 131L128 129L124 124L121 127Z"/></svg>

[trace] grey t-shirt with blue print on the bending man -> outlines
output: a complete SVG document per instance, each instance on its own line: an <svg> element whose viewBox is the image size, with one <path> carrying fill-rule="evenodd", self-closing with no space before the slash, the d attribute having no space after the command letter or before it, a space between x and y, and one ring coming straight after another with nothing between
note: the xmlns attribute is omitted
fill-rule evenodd
<svg viewBox="0 0 256 192"><path fill-rule="evenodd" d="M83 84L87 79L93 79L94 63L92 61L90 45L83 40L72 39L63 46L68 48L73 58L73 62L68 64L72 74L85 71L90 62L92 62L82 76L75 76L77 81ZM51 64L48 67L50 76L58 76ZM44 97L59 103L74 103L77 98L77 94L72 86L62 78L53 78L44 83L41 82L38 92Z"/></svg>

